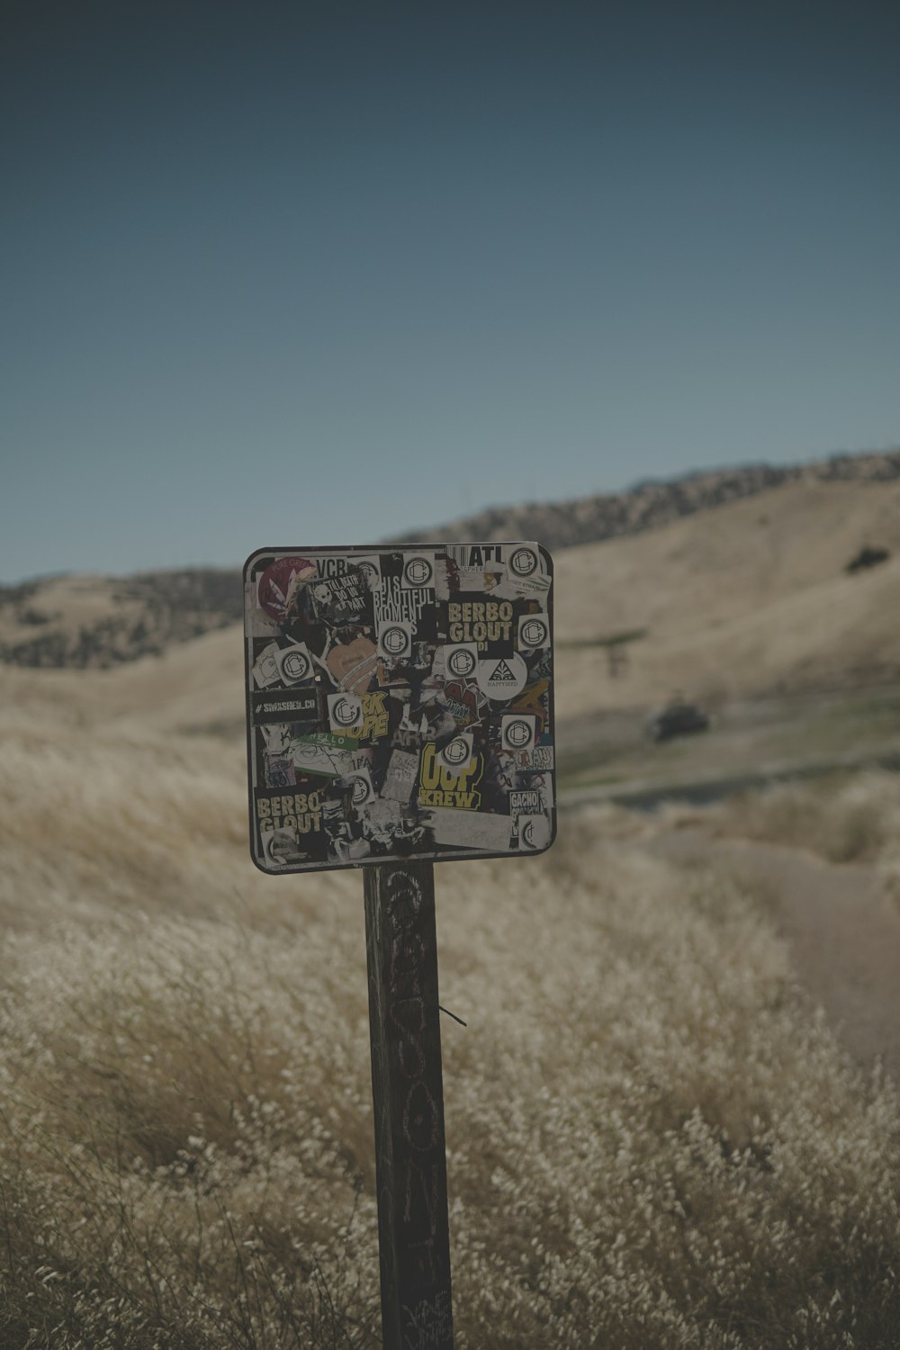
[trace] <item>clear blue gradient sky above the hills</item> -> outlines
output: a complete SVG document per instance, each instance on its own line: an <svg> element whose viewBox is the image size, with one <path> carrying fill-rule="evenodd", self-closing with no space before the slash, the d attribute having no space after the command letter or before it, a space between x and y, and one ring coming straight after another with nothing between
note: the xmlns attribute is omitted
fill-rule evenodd
<svg viewBox="0 0 900 1350"><path fill-rule="evenodd" d="M5 0L0 582L900 443L900 4Z"/></svg>

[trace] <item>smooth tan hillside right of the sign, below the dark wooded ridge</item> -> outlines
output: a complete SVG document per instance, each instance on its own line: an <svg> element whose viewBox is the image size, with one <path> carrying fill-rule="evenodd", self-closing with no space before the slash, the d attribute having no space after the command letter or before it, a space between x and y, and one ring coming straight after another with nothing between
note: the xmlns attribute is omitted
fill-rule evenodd
<svg viewBox="0 0 900 1350"><path fill-rule="evenodd" d="M864 543L888 563L847 576ZM564 652L560 711L656 703L673 688L710 705L773 688L891 679L900 668L900 483L789 483L556 566L557 637L645 628L626 675L602 651Z"/></svg>

